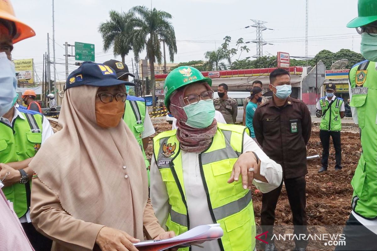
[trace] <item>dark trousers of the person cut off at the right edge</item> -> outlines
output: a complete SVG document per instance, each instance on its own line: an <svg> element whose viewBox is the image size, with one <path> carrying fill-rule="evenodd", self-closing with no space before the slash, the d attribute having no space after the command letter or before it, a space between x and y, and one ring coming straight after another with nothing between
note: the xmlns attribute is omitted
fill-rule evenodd
<svg viewBox="0 0 377 251"><path fill-rule="evenodd" d="M377 234L364 227L352 213L343 228L343 234L345 243L339 243L335 251L377 250Z"/></svg>

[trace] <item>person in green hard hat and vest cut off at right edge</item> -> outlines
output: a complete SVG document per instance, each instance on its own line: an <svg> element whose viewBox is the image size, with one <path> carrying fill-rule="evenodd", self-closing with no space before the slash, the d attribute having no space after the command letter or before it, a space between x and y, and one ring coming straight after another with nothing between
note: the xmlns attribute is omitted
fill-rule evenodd
<svg viewBox="0 0 377 251"><path fill-rule="evenodd" d="M351 185L352 211L343 229L345 245L335 250L377 250L377 1L359 0L359 16L347 27L361 34L365 61L349 71L352 117L360 128L362 153Z"/></svg>

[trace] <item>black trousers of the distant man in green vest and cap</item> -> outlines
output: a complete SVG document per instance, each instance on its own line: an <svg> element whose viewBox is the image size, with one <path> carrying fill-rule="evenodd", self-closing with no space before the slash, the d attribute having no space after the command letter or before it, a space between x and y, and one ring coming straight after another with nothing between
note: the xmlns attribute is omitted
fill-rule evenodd
<svg viewBox="0 0 377 251"><path fill-rule="evenodd" d="M334 148L335 148L335 167L342 169L342 144L340 142L340 131L319 131L319 138L321 139L323 151L322 151L322 167L327 169L328 159L329 159L329 147L330 147L330 136L333 138Z"/></svg>

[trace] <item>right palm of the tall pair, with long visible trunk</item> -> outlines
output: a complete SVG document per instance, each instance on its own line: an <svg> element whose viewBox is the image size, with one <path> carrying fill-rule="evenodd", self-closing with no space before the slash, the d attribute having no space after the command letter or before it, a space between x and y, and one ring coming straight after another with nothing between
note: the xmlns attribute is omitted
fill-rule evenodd
<svg viewBox="0 0 377 251"><path fill-rule="evenodd" d="M150 66L150 82L152 84L153 107L156 106L155 99L155 62L162 63L161 41L164 41L169 51L170 61L174 61L174 54L177 53L175 32L172 23L172 15L165 11L153 10L146 6L135 6L129 12L137 14L132 20L133 30L131 32L133 43L133 54L138 61L140 53L146 49Z"/></svg>

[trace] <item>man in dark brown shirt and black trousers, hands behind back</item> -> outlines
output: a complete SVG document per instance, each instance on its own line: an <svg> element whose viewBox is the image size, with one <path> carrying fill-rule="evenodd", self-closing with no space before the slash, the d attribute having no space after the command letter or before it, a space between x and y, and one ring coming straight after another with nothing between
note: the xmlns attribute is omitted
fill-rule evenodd
<svg viewBox="0 0 377 251"><path fill-rule="evenodd" d="M306 145L311 133L310 112L300 100L288 97L291 83L288 71L276 69L270 74L273 98L255 111L253 126L257 141L272 160L282 165L285 188L293 214L294 234L307 234ZM282 184L262 195L261 223L268 231L265 250L274 250L273 225ZM305 250L307 241L295 239L296 249Z"/></svg>

